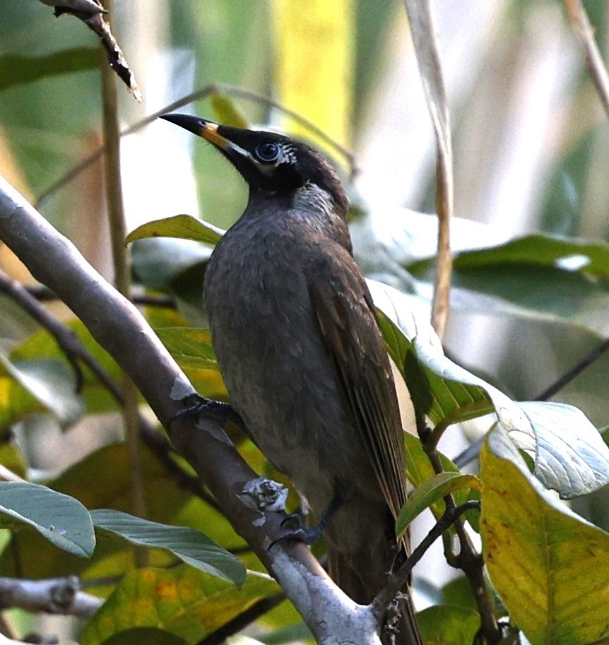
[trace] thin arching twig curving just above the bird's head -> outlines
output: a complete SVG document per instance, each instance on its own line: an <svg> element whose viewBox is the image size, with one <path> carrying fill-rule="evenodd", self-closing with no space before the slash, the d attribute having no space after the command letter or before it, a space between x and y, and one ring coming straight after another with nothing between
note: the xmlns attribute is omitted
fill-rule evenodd
<svg viewBox="0 0 609 645"><path fill-rule="evenodd" d="M146 127L148 124L158 119L158 117L160 117L161 114L167 114L167 112L173 112L174 110L179 110L179 108L184 107L184 105L189 105L189 103L205 98L208 95L217 94L217 93L224 93L227 95L241 97L256 103L261 103L262 105L267 105L268 107L274 107L276 108L276 110L280 110L281 112L283 112L283 114L287 114L288 117L292 117L292 119L295 119L297 122L307 127L315 136L320 138L322 141L326 141L326 143L328 143L329 146L332 146L335 150L338 151L338 153L341 153L341 155L343 155L345 159L348 161L351 178L353 178L354 175L357 173L357 167L355 166L355 155L353 155L353 153L350 152L350 150L348 150L347 148L344 148L343 146L341 146L340 143L337 143L332 138L330 138L324 131L321 131L321 129L319 129L315 124L310 122L308 119L305 119L305 117L301 117L300 114L297 114L292 110L289 110L287 107L281 105L277 101L273 101L272 99L266 96L257 94L256 92L252 92L252 90L245 90L243 88L238 88L235 85L225 85L222 83L218 85L206 85L204 88L201 88L199 90L196 90L195 92L187 94L186 96L182 97L177 101L170 103L169 105L165 105L165 107L162 107L160 110L158 110L158 112L149 114L148 117L146 117L145 119L141 119L141 121L138 121L134 123L132 126L129 126L128 128L124 129L121 132L120 136L124 137L124 136L129 136L129 134L134 134L134 132L141 130L142 128ZM85 157L81 162L78 162L77 165L71 168L71 170L66 172L66 174L64 174L62 177L57 179L57 182L54 182L45 191L42 191L42 193L38 197L37 202L35 203L35 208L40 208L43 205L43 203L45 203L45 201L52 194L54 194L60 188L66 186L66 184L69 184L72 181L72 179L75 179L76 177L78 177L78 175L81 174L81 172L86 170L91 164L97 161L105 153L105 150L106 150L106 146L102 146L101 148L98 148L97 150L95 150L94 153L91 153L88 157Z"/></svg>

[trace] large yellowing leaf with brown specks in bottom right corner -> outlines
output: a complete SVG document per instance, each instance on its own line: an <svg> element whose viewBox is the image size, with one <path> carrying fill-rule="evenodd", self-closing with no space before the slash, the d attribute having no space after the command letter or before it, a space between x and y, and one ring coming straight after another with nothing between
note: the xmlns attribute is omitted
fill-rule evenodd
<svg viewBox="0 0 609 645"><path fill-rule="evenodd" d="M533 645L584 645L609 625L609 535L543 490L504 432L480 456L485 564Z"/></svg>

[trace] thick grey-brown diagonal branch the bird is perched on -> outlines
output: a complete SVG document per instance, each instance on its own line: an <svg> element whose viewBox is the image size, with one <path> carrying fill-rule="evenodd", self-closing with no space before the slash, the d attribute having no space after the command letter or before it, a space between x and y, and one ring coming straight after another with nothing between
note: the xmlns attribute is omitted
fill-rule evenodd
<svg viewBox="0 0 609 645"><path fill-rule="evenodd" d="M83 321L95 340L129 374L167 427L194 395L187 377L129 300L88 264L78 249L0 177L0 239ZM257 478L221 427L209 419L179 418L172 444L191 463L235 531L252 545L304 618L317 641L378 645L372 608L357 605L329 579L302 543L268 546L283 534L283 512L244 493Z"/></svg>

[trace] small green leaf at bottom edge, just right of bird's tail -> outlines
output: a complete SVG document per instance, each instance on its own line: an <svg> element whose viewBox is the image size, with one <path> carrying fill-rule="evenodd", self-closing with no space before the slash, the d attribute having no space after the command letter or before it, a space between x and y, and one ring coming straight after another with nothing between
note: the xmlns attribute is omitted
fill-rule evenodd
<svg viewBox="0 0 609 645"><path fill-rule="evenodd" d="M463 607L437 605L417 613L425 645L471 645L480 629L480 614Z"/></svg>

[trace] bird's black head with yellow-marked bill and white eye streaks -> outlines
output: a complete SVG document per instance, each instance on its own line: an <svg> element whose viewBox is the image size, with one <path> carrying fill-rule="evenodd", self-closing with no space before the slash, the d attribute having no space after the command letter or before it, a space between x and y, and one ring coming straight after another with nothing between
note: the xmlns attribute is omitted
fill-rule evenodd
<svg viewBox="0 0 609 645"><path fill-rule="evenodd" d="M290 196L317 187L333 201L344 218L348 200L331 165L313 148L274 132L223 126L187 114L164 114L161 119L201 136L237 168L250 190Z"/></svg>

